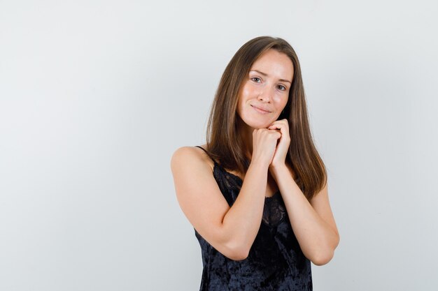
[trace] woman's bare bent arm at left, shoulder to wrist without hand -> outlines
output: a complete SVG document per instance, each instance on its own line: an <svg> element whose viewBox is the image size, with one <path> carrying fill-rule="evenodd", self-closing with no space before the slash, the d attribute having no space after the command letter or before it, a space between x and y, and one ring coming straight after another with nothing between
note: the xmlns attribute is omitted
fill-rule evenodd
<svg viewBox="0 0 438 291"><path fill-rule="evenodd" d="M178 202L195 230L211 246L227 258L243 260L262 221L269 165L251 162L241 191L229 207L199 151L182 147L171 158Z"/></svg>

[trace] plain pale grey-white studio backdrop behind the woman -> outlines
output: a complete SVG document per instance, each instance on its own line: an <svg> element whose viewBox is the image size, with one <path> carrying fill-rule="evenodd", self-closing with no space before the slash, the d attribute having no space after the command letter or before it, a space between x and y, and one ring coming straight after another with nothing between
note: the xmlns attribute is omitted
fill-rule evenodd
<svg viewBox="0 0 438 291"><path fill-rule="evenodd" d="M0 290L199 290L170 158L225 66L302 66L341 241L314 290L438 290L438 4L0 1ZM293 138L293 137L292 137Z"/></svg>

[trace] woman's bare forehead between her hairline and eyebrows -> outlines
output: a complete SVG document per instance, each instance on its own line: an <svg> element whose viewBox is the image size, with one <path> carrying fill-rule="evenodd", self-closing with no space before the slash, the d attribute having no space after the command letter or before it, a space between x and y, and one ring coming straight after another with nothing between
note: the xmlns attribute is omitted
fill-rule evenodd
<svg viewBox="0 0 438 291"><path fill-rule="evenodd" d="M260 70L280 79L292 80L293 64L283 52L269 49L251 66L250 70Z"/></svg>

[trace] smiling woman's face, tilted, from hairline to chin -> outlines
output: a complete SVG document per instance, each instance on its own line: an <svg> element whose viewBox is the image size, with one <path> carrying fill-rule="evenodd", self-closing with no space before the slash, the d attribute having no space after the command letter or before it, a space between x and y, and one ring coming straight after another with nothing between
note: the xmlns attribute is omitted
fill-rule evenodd
<svg viewBox="0 0 438 291"><path fill-rule="evenodd" d="M239 91L237 114L251 128L267 128L288 103L293 65L286 54L269 49L251 66Z"/></svg>

